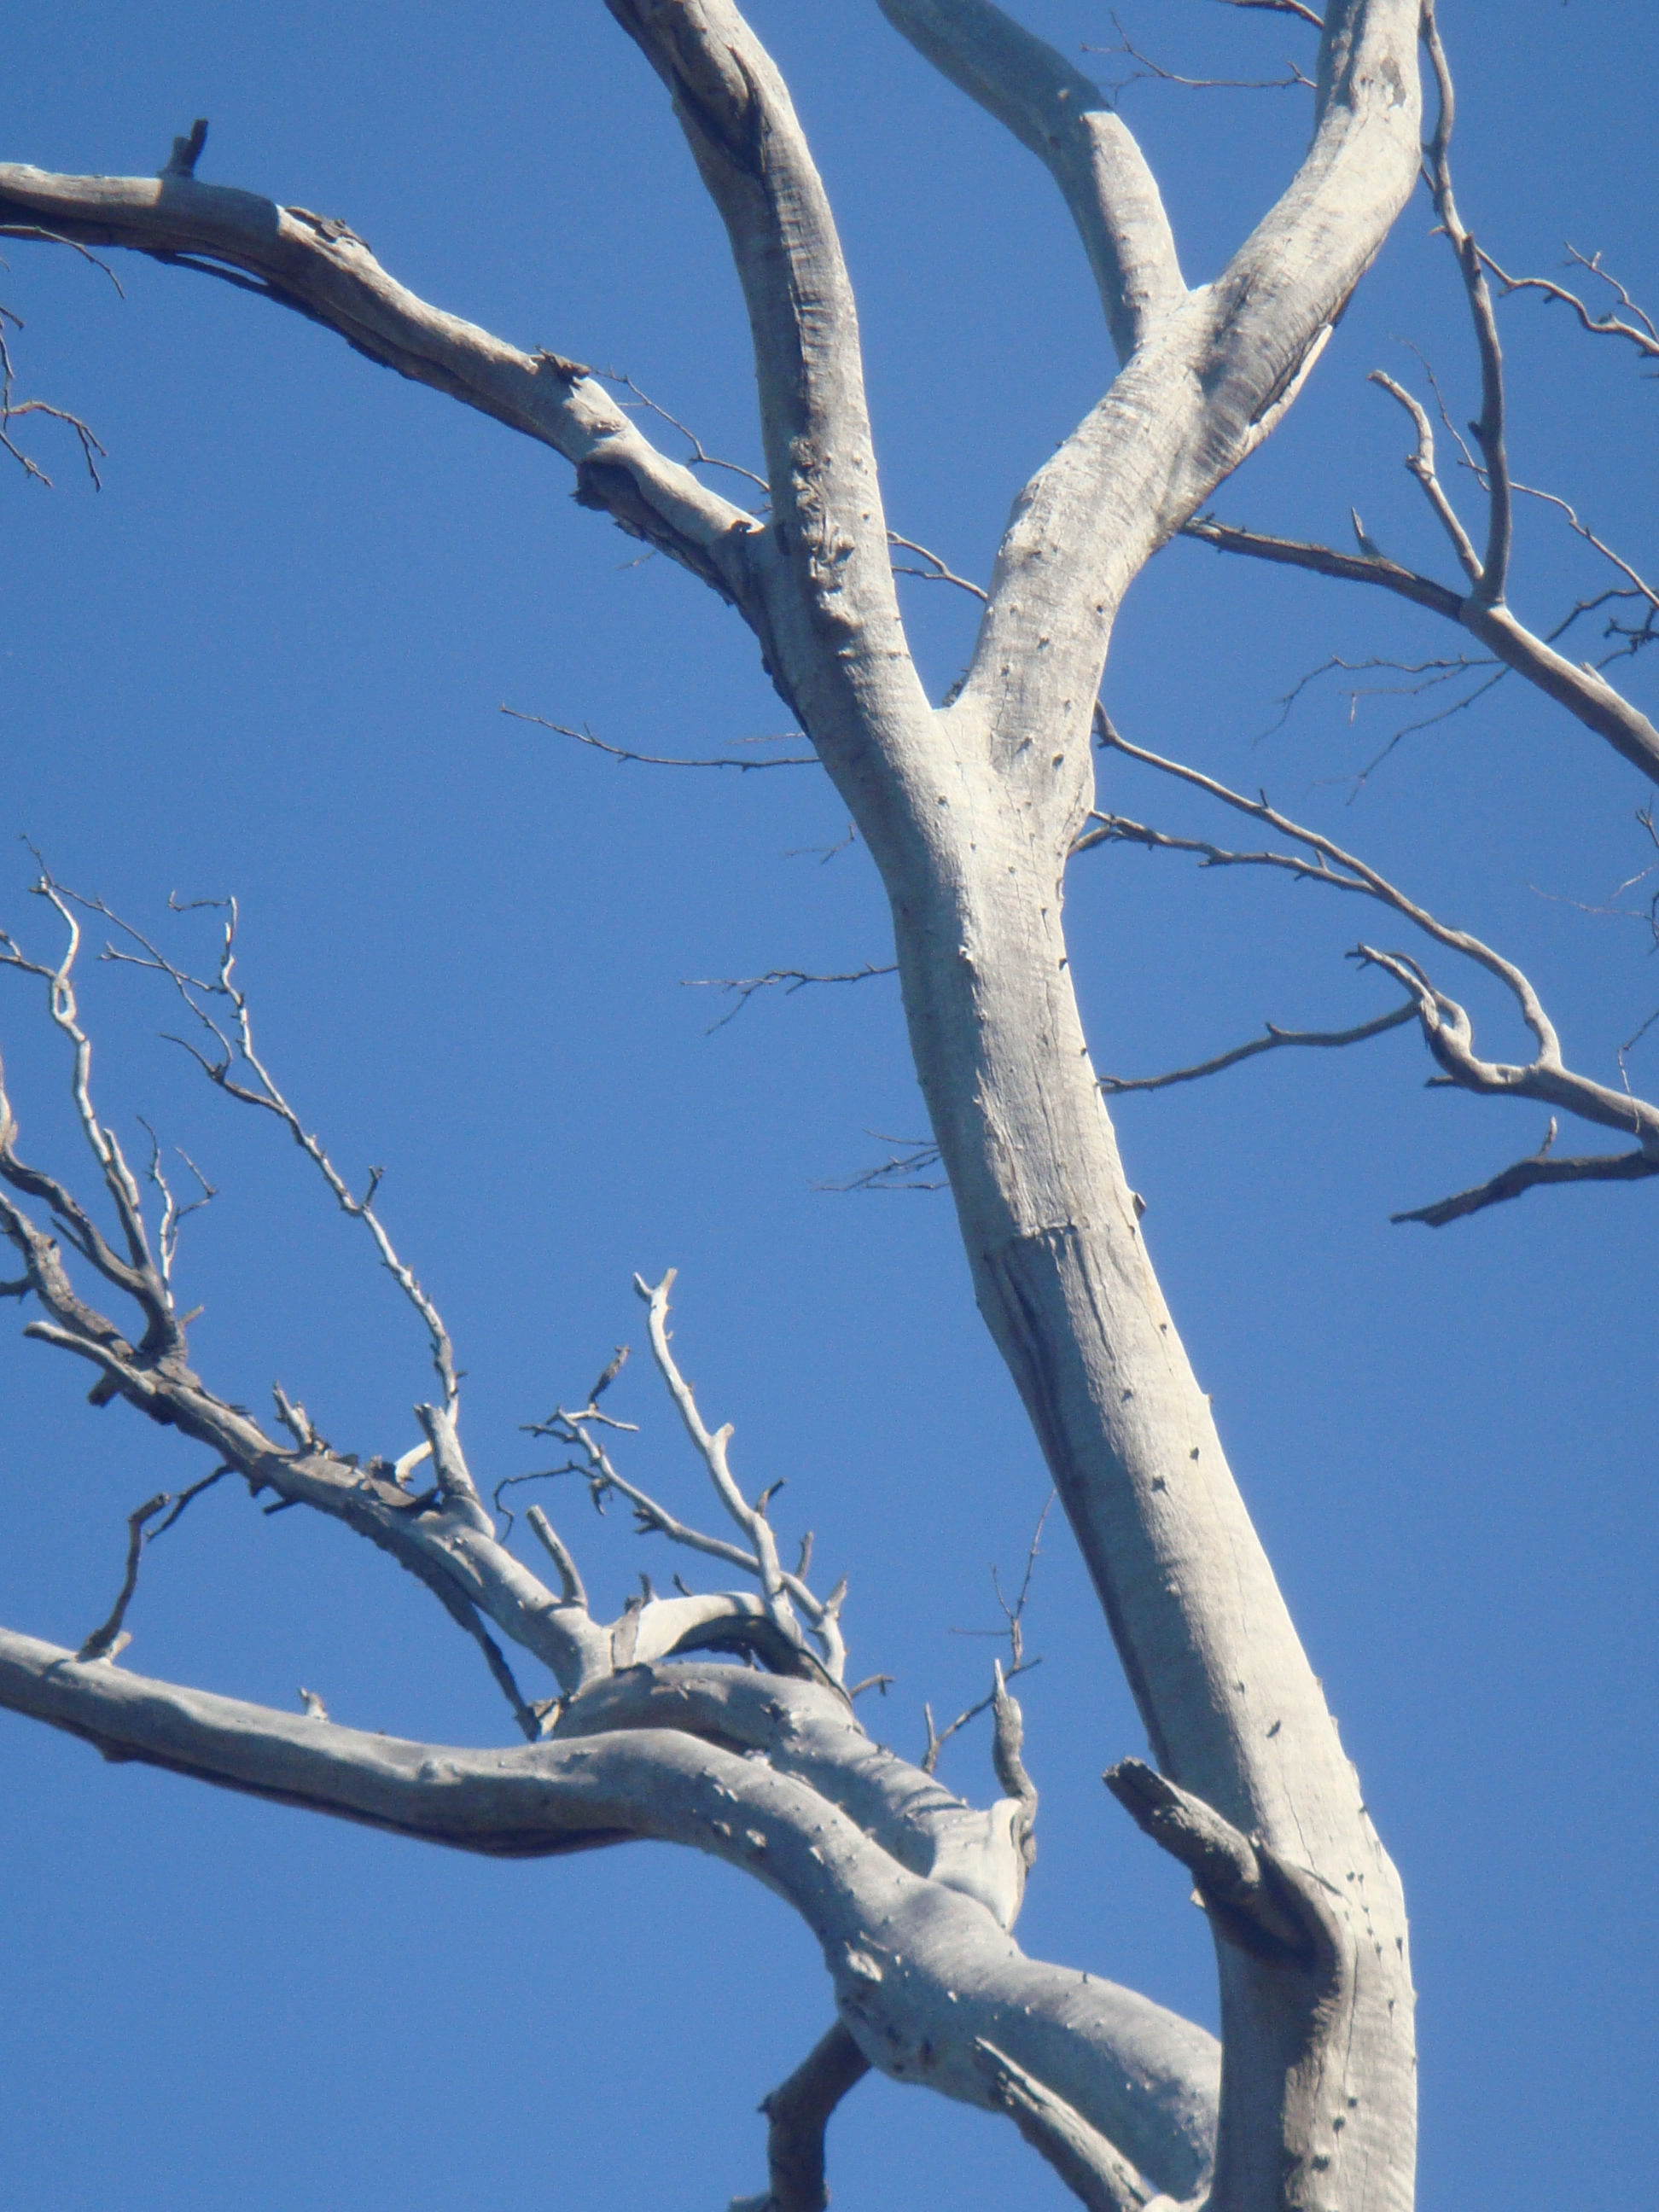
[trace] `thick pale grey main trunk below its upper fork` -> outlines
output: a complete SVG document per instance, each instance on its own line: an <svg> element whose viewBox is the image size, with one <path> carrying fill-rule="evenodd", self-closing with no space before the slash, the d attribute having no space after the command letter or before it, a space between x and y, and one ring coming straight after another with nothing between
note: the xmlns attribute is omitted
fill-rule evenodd
<svg viewBox="0 0 1659 2212"><path fill-rule="evenodd" d="M975 1294L1159 1765L1307 1869L1329 1936L1287 1962L1217 1927L1212 2212L1405 2212L1416 2059L1398 1876L1159 1294L1077 1015L1062 863L1015 794L1004 774L953 776L911 816L916 865L878 852Z"/></svg>

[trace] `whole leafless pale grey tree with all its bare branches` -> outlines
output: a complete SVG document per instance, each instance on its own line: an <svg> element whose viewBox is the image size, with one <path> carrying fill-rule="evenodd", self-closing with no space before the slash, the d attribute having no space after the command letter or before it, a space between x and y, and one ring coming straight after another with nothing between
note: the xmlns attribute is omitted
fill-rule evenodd
<svg viewBox="0 0 1659 2212"><path fill-rule="evenodd" d="M1509 611L1513 513L1528 491L1504 436L1493 285L1546 294L1577 316L1586 343L1613 338L1646 358L1659 352L1652 323L1595 257L1582 257L1571 290L1509 274L1464 228L1433 4L1332 0L1323 20L1301 0L1230 4L1283 18L1270 29L1296 42L1296 58L1281 75L1274 46L1252 84L1283 84L1274 97L1312 91L1312 135L1232 261L1194 283L1110 93L991 0L880 0L894 31L1051 173L1119 361L1064 445L1011 487L984 586L889 529L834 215L790 91L732 0L608 0L664 84L743 285L765 480L743 484L743 471L728 471L726 491L695 438L679 462L646 436L641 418L679 425L628 378L522 352L425 303L345 221L204 181L201 122L157 177L0 166L9 237L84 254L122 248L226 276L562 453L584 507L737 608L801 732L783 752L684 765L823 763L891 896L891 967L719 980L717 1013L730 1020L765 989L898 975L931 1135L860 1181L918 1181L933 1164L949 1179L978 1303L1146 1723L1155 1765L1126 1759L1108 1783L1197 1887L1217 1940L1223 2046L1135 1991L1031 1960L1013 1942L1037 1820L1011 1690L1031 1663L1024 1588L1000 1586L1009 1661L993 1668L982 1705L945 1730L929 1712L920 1765L878 1747L854 1708L867 1683L849 1681L847 1582L825 1584L810 1540L794 1559L781 1553L776 1482L741 1464L726 1409L703 1407L679 1365L672 1272L635 1290L648 1356L706 1484L703 1515L681 1520L635 1480L626 1425L606 1407L622 1352L580 1402L531 1425L551 1460L533 1473L540 1486L520 1491L531 1478L518 1475L493 1484L462 1447L451 1336L376 1208L378 1172L347 1181L263 1055L237 980L234 907L150 933L42 860L29 927L0 938L11 1018L18 995L35 991L62 1037L86 1152L86 1188L33 1166L0 1091L0 1228L22 1270L4 1290L29 1303L31 1338L91 1369L97 1402L122 1400L206 1455L177 1493L131 1515L119 1597L80 1650L0 1632L0 1701L113 1756L456 1849L529 1858L650 1836L761 1878L821 1942L834 2006L823 2042L765 2108L770 2183L745 2203L772 2212L827 2201L825 2126L872 2066L1009 2115L1093 2208L1405 2212L1416 2055L1400 1880L1164 1305L1102 1093L1212 1075L1281 1046L1358 1044L1413 1022L1438 1082L1537 1102L1619 1148L1557 1157L1546 1144L1405 1219L1444 1223L1546 1181L1659 1172L1659 1106L1575 1073L1513 960L1265 799L1121 734L1097 703L1124 593L1188 533L1230 557L1409 602L1455 628L1471 668L1537 686L1659 781L1659 734L1606 672L1655 635L1659 597L1637 568L1568 511L1608 564L1604 595L1551 637ZM1427 144L1420 49L1433 88ZM1110 53L1119 84L1124 71L1192 82L1121 33ZM1210 511L1294 405L1420 175L1480 349L1482 405L1462 453L1482 509L1473 524L1442 476L1433 409L1407 385L1378 380L1409 425L1405 467L1444 533L1444 577L1389 560L1358 515L1358 551L1338 551ZM0 310L0 341L13 321ZM0 442L24 469L40 467L13 442L31 409L58 414L93 465L86 425L20 398L2 345L0 383ZM942 706L911 661L896 573L982 599L971 664ZM1601 666L1557 650L1571 622L1590 615L1615 639ZM553 728L626 761L659 759ZM1265 843L1230 847L1099 810L1102 748L1241 816L1241 834ZM1172 1073L1099 1079L1073 998L1060 887L1073 858L1117 843L1192 854L1206 867L1276 869L1358 900L1371 936L1354 958L1387 980L1389 1006L1338 1031L1270 1029ZM1378 936L1396 925L1409 927L1411 949ZM217 931L206 960L190 951L190 929ZM361 1225L429 1340L434 1394L414 1409L418 1433L361 1460L336 1451L283 1389L261 1420L192 1365L175 1259L186 1217L212 1190L159 1144L135 1166L100 1115L93 1040L77 1013L88 931L106 940L100 958L170 993L204 1079L276 1124ZM1460 962L1513 995L1535 1046L1526 1066L1475 1048L1471 1015L1451 995ZM710 1325L706 1314L695 1321ZM330 1515L416 1575L476 1644L522 1741L489 1752L396 1741L336 1725L314 1692L290 1714L119 1666L146 1546L223 1478L265 1511ZM646 1579L617 1619L597 1617L555 1520L560 1478L566 1491L580 1482L597 1502L624 1502L686 1573L717 1588L675 1575L672 1593L657 1593ZM507 1544L520 1509L540 1573ZM938 1745L980 1710L998 1781L987 1807L933 1776Z"/></svg>

